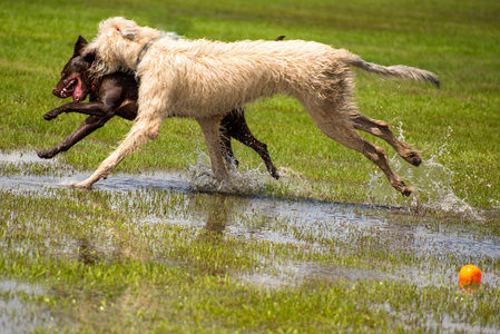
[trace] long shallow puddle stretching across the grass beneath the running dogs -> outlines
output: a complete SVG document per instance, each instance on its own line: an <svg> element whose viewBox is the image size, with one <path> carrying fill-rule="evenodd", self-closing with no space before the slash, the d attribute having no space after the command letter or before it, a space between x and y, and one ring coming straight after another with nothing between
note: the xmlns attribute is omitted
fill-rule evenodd
<svg viewBox="0 0 500 334"><path fill-rule="evenodd" d="M200 159L203 160L204 157ZM35 154L17 153L0 154L0 164L47 164L55 167L60 163L39 159ZM31 196L33 194L57 196L57 189L66 188L70 183L85 179L90 175L65 168L61 170L58 176L14 173L1 175L0 188L3 191L29 193ZM457 263L482 261L498 264L500 261L498 237L480 235L471 232L471 228L467 230L453 226L437 228L431 217L409 220L406 218L412 217L411 210L404 207L388 208L321 200L278 200L255 196L264 186L262 180L264 177L258 171L243 173L237 183L231 185L231 193L243 193L246 194L245 196L199 194L193 190L196 188L194 184L202 184L202 188L205 189L204 187L209 185L210 180L206 166L204 167L203 161L198 161L197 166L192 166L188 173L112 174L108 179L97 183L94 189L115 194L112 196L116 196L114 203L117 209L120 203L134 202L135 196L138 196L134 195L137 191L143 193L140 196L147 194L143 196L146 199L141 200L150 202L147 207L155 209L137 222L138 226L184 224L229 237L294 244L304 246L308 252L326 254L351 252L364 257L370 257L372 253L395 254L395 256L411 254L419 257L421 263L425 263L427 258L443 259L443 264L435 268L425 267L425 265L401 266L389 272L296 262L276 265L275 269L280 274L274 276L256 271L242 277L244 281L268 286L317 276L346 281L393 278L410 281L416 285L455 285ZM199 181L199 179L203 180ZM161 215L157 213L163 205L163 202L158 199L160 197L158 194L161 191L184 194L186 203L179 205L189 206L190 200L203 200L204 204L189 208L190 212L182 216ZM200 196L205 197L199 199ZM477 224L482 223L478 219ZM104 249L114 252L112 246L104 247ZM447 258L453 258L453 264L447 263ZM500 277L486 271L483 283L500 287Z"/></svg>

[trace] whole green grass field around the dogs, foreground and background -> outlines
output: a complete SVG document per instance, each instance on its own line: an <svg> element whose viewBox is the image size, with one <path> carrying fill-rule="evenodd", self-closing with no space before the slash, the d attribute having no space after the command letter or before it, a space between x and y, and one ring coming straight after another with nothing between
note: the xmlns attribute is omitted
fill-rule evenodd
<svg viewBox="0 0 500 334"><path fill-rule="evenodd" d="M98 22L112 16L193 39L234 41L285 35L287 39L346 48L366 61L403 63L435 72L441 89L382 80L356 71L359 108L372 118L393 121L394 131L422 149L424 160L442 167L440 170L445 175L428 184L429 191L445 185L486 218L478 220L431 210L423 213L423 217L409 214L384 219L433 230L448 228L458 235L473 233L479 239L498 244L498 1L2 1L1 151L49 148L85 119L82 115L61 115L46 121L42 115L62 102L51 90L78 35L91 39ZM296 187L269 180L258 196L355 205L373 202L369 194L376 191L371 181L379 170L362 155L324 137L297 101L283 96L258 101L247 107L246 117L254 135L268 144L275 165L307 185L306 190L297 191ZM129 127L129 121L112 119L61 154L56 165L2 163L0 175L9 178L66 173L61 166L69 173L88 175ZM366 138L393 156L385 143ZM258 168L264 173L265 167L254 151L236 143L234 148L241 170ZM116 174L186 171L204 150L203 136L195 121L167 119L159 138L124 160ZM400 164L399 158L393 161ZM430 167L422 168L430 170L425 169ZM416 177L411 178L416 173L413 167L401 167L399 173L408 177L409 184L418 181ZM385 180L381 187L386 187ZM391 191L390 202L375 199L375 204L413 205L414 198L403 199ZM307 262L350 269L378 267L394 274L395 267L414 267L418 272L432 272L434 267L457 271L463 258L439 254L422 258L385 249L384 238L379 234L372 235L370 243L356 236L352 244L329 244L321 238L311 240L301 228L295 234L308 246L234 236L214 242L214 236L205 236L199 228L178 222L196 216L193 210L203 217L220 209L229 210L226 207L238 212L239 208L234 208L242 205L238 200L206 194L192 195L187 200L183 191L147 193L63 188L40 196L0 189L0 328L9 320L22 323L26 318L40 332L89 333L468 332L480 328L496 332L500 328L500 295L494 285L484 284L479 293L464 294L447 284L414 284L411 279L396 283L391 277L322 277L278 288L241 279L259 267L272 276L275 265L283 263ZM434 199L443 198L428 200ZM186 207L185 202L194 208ZM126 204L129 212L117 208L120 204ZM161 219L174 217L174 223L138 223L150 215ZM223 218L215 215L214 219ZM238 219L255 228L264 224L258 213ZM277 219L273 224L268 228L282 230L286 222ZM365 243L370 244L367 248L361 246ZM329 250L316 252L314 245ZM349 252L339 250L341 246ZM499 277L498 258L471 259ZM10 283L26 287L7 288ZM9 311L17 310L17 303L24 305L24 315ZM460 325L445 327L443 324ZM22 324L14 328L31 330Z"/></svg>

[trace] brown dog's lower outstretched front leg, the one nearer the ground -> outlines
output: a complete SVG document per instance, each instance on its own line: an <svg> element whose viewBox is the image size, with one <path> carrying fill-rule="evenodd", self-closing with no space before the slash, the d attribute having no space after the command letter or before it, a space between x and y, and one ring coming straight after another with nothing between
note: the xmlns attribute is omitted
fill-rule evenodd
<svg viewBox="0 0 500 334"><path fill-rule="evenodd" d="M112 116L111 116L112 117ZM61 151L67 151L75 144L97 130L101 128L111 117L98 117L98 116L89 116L87 119L76 129L71 135L66 137L61 143L57 146L52 147L48 150L39 150L37 155L42 159L51 159Z"/></svg>

